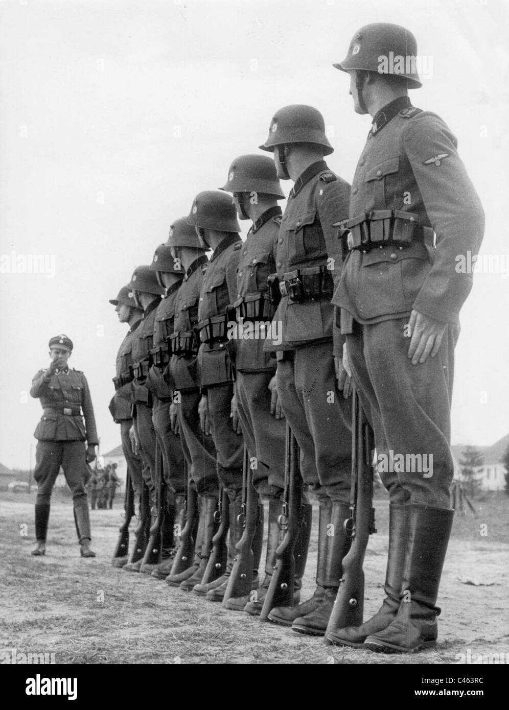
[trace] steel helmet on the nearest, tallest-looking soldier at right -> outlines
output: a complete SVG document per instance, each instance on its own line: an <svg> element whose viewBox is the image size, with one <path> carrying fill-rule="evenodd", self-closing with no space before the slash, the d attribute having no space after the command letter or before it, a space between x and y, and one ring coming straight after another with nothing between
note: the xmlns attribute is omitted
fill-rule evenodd
<svg viewBox="0 0 509 710"><path fill-rule="evenodd" d="M416 58L417 41L410 31L400 25L376 22L355 33L346 59L334 67L342 72L358 69L398 76L407 80L409 89L418 89L422 83Z"/></svg>

